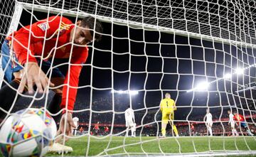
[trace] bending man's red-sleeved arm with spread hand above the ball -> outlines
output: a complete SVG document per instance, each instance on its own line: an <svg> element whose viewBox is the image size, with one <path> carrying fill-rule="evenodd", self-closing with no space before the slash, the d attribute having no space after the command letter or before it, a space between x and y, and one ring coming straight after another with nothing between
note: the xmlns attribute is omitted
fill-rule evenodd
<svg viewBox="0 0 256 157"><path fill-rule="evenodd" d="M21 70L23 78L19 87L19 92L23 92L23 89L28 85L28 93L33 93L33 82L38 88L38 92L42 93L48 86L48 77L38 66L35 58L35 52L31 48L31 44L44 40L50 37L58 29L58 23L60 23L59 16L49 17L43 21L38 21L30 26L21 28L19 31L14 32L7 39L12 40L13 48L18 63L25 66L25 70ZM41 56L39 56L41 57ZM50 87L54 85L50 83Z"/></svg>

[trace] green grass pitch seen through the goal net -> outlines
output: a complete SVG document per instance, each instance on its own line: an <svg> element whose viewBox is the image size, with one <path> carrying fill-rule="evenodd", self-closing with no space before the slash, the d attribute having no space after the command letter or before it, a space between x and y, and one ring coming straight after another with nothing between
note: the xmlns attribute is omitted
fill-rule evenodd
<svg viewBox="0 0 256 157"><path fill-rule="evenodd" d="M156 154L164 155L164 153L194 153L207 151L256 151L255 137L240 136L240 137L166 137L165 139L157 139L156 137L124 137L112 136L102 137L98 139L90 137L90 148L88 156L96 155L146 155ZM111 140L110 140L111 139ZM73 153L65 154L64 156L85 156L87 150L88 137L76 137L70 139L66 145L73 147ZM110 143L109 143L110 142ZM109 146L108 146L109 144ZM249 147L249 148L248 148ZM145 153L146 152L146 153ZM46 156L60 156L57 153L47 153Z"/></svg>

